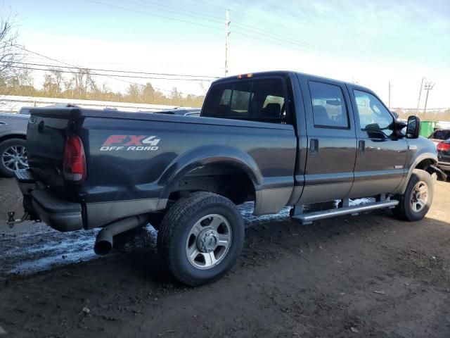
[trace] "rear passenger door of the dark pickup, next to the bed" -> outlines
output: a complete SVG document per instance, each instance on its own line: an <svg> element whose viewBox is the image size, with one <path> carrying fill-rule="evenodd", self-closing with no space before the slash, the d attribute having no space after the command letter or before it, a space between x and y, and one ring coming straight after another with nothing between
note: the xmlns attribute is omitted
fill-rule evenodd
<svg viewBox="0 0 450 338"><path fill-rule="evenodd" d="M307 126L307 161L299 204L347 197L354 180L356 134L345 84L299 75Z"/></svg>

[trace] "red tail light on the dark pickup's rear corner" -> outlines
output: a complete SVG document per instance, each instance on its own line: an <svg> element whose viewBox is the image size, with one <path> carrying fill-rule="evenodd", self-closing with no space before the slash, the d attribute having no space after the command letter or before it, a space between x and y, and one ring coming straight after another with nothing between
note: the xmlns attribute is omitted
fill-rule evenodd
<svg viewBox="0 0 450 338"><path fill-rule="evenodd" d="M65 140L64 147L64 178L72 182L86 180L86 156L82 140L76 135L70 135Z"/></svg>

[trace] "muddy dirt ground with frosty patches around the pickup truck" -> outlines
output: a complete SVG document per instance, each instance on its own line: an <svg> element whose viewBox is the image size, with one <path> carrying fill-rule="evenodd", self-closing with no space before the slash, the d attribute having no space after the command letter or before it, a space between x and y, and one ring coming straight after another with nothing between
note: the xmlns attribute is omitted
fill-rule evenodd
<svg viewBox="0 0 450 338"><path fill-rule="evenodd" d="M0 194L0 337L450 337L450 182L417 223L298 225L247 204L238 265L194 289L168 275L150 225L98 258L94 230L10 230L20 193L0 179Z"/></svg>

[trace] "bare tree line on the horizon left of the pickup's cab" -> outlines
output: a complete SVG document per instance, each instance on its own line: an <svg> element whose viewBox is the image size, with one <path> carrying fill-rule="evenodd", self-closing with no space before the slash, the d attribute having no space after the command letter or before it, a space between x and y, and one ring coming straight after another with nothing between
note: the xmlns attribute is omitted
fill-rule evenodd
<svg viewBox="0 0 450 338"><path fill-rule="evenodd" d="M70 73L63 68L49 68L44 73L44 85L34 87L34 69L23 63L25 47L18 44L14 16L0 15L0 94L43 96L60 99L131 102L137 104L166 104L197 106L205 96L182 94L176 87L164 94L150 82L130 82L125 92L114 92L106 82L98 83L96 74L88 68L76 68Z"/></svg>

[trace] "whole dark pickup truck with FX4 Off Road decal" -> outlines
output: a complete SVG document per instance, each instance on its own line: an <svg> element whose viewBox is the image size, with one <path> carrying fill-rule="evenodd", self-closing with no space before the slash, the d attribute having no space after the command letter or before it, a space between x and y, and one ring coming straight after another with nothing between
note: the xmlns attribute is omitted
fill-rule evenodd
<svg viewBox="0 0 450 338"><path fill-rule="evenodd" d="M25 215L60 231L102 227L94 251L150 222L171 273L212 282L244 241L236 205L255 215L292 206L303 224L393 208L422 219L433 197L432 142L415 116L394 118L370 89L280 71L214 82L200 117L72 108L31 110L30 168L15 176ZM368 204L351 200L373 197ZM306 213L305 204L339 200ZM9 213L8 223L20 220Z"/></svg>

